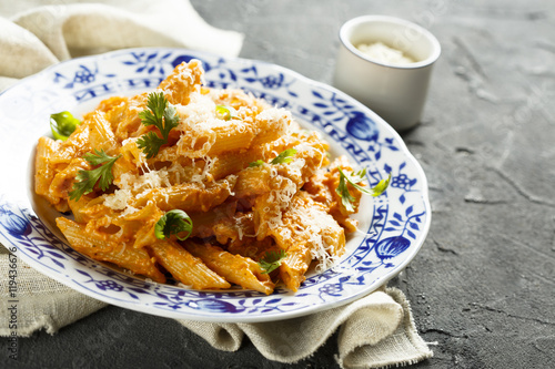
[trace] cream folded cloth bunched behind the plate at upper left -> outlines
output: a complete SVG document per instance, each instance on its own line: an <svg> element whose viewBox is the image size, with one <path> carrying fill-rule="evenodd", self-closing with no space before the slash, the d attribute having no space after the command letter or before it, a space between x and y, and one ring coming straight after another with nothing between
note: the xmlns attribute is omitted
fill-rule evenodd
<svg viewBox="0 0 555 369"><path fill-rule="evenodd" d="M29 8L34 2L0 2L0 76L9 78L0 80L0 90L13 79L80 55L181 47L236 57L243 43L243 34L209 25L186 0L52 1Z"/></svg>

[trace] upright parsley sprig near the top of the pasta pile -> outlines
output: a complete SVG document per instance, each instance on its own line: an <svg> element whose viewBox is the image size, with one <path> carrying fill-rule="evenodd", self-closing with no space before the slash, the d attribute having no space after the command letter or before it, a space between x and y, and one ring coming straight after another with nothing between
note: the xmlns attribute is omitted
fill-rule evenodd
<svg viewBox="0 0 555 369"><path fill-rule="evenodd" d="M150 131L137 140L137 144L147 154L147 158L151 158L157 156L160 147L168 143L170 131L178 126L179 115L175 106L168 102L162 92L149 93L147 107L139 113L142 124L154 125L162 136Z"/></svg>

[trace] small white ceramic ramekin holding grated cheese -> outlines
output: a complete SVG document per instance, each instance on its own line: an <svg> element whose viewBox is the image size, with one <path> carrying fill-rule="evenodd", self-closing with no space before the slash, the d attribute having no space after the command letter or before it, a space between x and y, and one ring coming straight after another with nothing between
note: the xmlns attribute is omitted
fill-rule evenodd
<svg viewBox="0 0 555 369"><path fill-rule="evenodd" d="M386 16L354 18L340 30L333 84L355 98L395 130L416 125L424 110L432 66L441 54L437 39L422 27ZM371 59L361 43L382 42L414 63L395 65Z"/></svg>

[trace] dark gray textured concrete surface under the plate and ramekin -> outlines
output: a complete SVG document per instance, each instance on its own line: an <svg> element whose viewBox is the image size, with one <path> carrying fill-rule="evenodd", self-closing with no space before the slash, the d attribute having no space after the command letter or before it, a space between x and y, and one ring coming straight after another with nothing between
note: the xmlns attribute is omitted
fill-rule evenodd
<svg viewBox="0 0 555 369"><path fill-rule="evenodd" d="M433 222L391 281L435 356L414 368L555 367L555 2L193 0L244 32L241 57L330 83L350 18L402 17L443 47L422 124L403 134L426 172ZM20 339L22 367L334 368L335 337L285 366L245 341L219 352L176 322L108 307ZM6 365L6 356L0 356Z"/></svg>

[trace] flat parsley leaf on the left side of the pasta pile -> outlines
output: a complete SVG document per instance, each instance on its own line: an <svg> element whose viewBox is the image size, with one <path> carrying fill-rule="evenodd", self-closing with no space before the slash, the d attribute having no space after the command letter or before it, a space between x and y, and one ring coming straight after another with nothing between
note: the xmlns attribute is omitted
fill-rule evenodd
<svg viewBox="0 0 555 369"><path fill-rule="evenodd" d="M93 166L100 166L91 171L79 171L75 176L75 180L78 182L73 183L73 189L69 193L70 199L73 201L79 201L82 195L91 193L92 189L94 189L94 185L97 184L97 182L99 182L100 188L102 191L107 191L113 181L113 163L115 163L115 161L121 157L121 154L118 156L110 156L104 153L103 150L94 150L94 154L87 153L83 155L83 157L89 162L89 164Z"/></svg>

